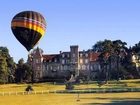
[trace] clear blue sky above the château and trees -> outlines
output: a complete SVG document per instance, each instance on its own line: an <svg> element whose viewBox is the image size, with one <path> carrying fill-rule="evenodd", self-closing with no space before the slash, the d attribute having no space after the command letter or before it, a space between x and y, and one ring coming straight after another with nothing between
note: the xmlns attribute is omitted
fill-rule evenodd
<svg viewBox="0 0 140 105"><path fill-rule="evenodd" d="M120 39L127 46L140 41L140 0L1 0L0 4L0 46L9 49L15 62L26 61L29 52L13 35L11 20L26 10L46 19L46 33L37 45L44 54L69 51L70 45L87 50L104 39Z"/></svg>

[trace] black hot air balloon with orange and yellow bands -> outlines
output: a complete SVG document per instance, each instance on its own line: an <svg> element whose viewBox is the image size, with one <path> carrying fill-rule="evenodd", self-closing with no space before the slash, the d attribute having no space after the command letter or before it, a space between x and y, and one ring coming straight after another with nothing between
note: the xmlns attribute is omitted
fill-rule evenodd
<svg viewBox="0 0 140 105"><path fill-rule="evenodd" d="M23 11L13 17L11 29L16 39L30 51L44 36L46 21L38 12Z"/></svg>

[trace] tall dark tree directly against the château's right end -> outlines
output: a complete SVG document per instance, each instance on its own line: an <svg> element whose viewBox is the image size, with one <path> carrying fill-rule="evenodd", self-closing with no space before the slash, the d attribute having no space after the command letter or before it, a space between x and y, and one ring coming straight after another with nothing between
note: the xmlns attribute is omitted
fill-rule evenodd
<svg viewBox="0 0 140 105"><path fill-rule="evenodd" d="M99 62L101 70L99 71L99 79L108 80L109 79L109 57L113 52L113 43L111 40L105 39L104 41L97 42L93 47L93 51L100 52Z"/></svg>

